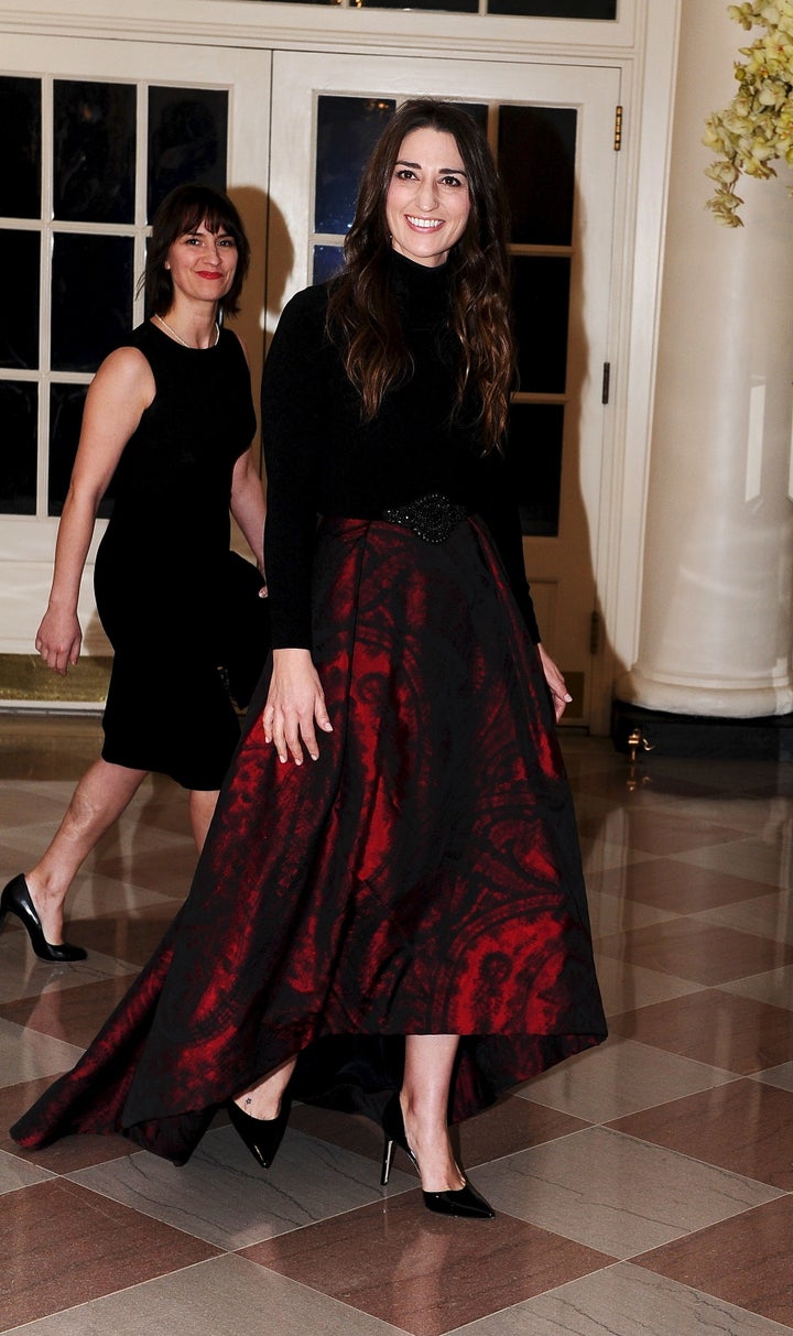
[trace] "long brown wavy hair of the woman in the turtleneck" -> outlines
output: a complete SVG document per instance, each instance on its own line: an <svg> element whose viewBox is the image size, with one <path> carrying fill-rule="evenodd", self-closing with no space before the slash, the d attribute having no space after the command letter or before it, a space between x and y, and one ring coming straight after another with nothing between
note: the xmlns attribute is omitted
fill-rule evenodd
<svg viewBox="0 0 793 1336"><path fill-rule="evenodd" d="M343 350L347 375L368 422L383 395L413 371L388 282L386 194L406 135L427 127L454 135L469 182L471 210L447 259L451 331L461 350L455 411L473 393L485 450L491 450L505 434L515 370L507 206L485 135L454 103L415 98L388 120L363 171L344 240L346 266L331 283L327 329Z"/></svg>

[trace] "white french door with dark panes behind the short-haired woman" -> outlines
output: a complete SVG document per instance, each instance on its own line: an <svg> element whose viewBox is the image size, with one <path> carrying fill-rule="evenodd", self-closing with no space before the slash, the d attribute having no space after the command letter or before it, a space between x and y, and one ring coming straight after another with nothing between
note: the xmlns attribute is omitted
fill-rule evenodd
<svg viewBox="0 0 793 1336"><path fill-rule="evenodd" d="M29 116L27 138L20 131L19 143L32 186L24 198L11 187L4 192L0 235L20 254L37 257L24 275L25 357L12 350L0 365L3 403L7 409L24 405L24 421L21 411L13 418L19 422L13 441L7 414L7 465L11 450L25 460L16 473L11 462L4 474L11 480L3 489L0 514L0 653L5 655L32 653L65 485L56 474L60 469L68 482L71 466L68 458L59 462L59 422L71 414L69 430L61 432L68 437L68 454L69 444L72 450L76 446L80 395L96 359L109 350L100 349L92 361L89 353L72 357L72 349L91 346L92 329L107 322L115 297L120 295L113 330L117 326L123 333L143 318L134 281L143 269L148 211L158 202L152 183L162 196L170 184L207 179L206 170L224 175L224 182L214 183L224 184L234 198L252 244L236 327L256 383L263 357L270 52L51 37L47 71L41 73L36 37L4 36L0 76L5 104L19 96L20 111ZM88 127L91 142L80 143L81 127ZM124 203L117 206L123 192ZM123 278L104 290L93 259L107 259L109 274L113 257L120 257ZM68 302L64 289L72 295ZM92 592L92 560L103 529L99 520L83 578L84 655L109 652ZM188 580L190 553L184 558Z"/></svg>

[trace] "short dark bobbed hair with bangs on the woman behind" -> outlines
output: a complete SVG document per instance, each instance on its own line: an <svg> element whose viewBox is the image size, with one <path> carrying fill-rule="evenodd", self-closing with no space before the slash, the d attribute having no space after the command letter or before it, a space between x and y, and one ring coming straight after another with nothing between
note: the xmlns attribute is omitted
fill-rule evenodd
<svg viewBox="0 0 793 1336"><path fill-rule="evenodd" d="M176 186L156 210L151 224L151 239L146 254L143 289L150 315L164 315L174 302L174 283L166 269L168 251L175 240L192 232L202 223L216 234L228 232L236 244L236 273L226 297L219 301L224 315L239 311L239 294L251 263L251 247L235 206L219 190L200 183Z"/></svg>

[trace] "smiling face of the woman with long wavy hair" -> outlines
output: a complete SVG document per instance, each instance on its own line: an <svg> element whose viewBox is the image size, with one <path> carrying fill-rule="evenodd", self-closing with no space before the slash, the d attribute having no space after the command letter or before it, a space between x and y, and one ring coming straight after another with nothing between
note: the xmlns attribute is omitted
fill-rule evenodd
<svg viewBox="0 0 793 1336"><path fill-rule="evenodd" d="M445 265L471 211L469 179L454 135L430 126L399 146L386 220L391 244L417 265Z"/></svg>

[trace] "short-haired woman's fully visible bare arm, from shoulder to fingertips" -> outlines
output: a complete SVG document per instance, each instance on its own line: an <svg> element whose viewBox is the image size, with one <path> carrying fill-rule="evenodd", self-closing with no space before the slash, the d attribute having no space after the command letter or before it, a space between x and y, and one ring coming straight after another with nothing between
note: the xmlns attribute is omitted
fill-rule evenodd
<svg viewBox="0 0 793 1336"><path fill-rule="evenodd" d="M49 601L36 632L36 649L61 676L80 656L77 599L96 510L154 395L148 362L136 349L121 347L101 363L85 397L80 442L57 526Z"/></svg>

